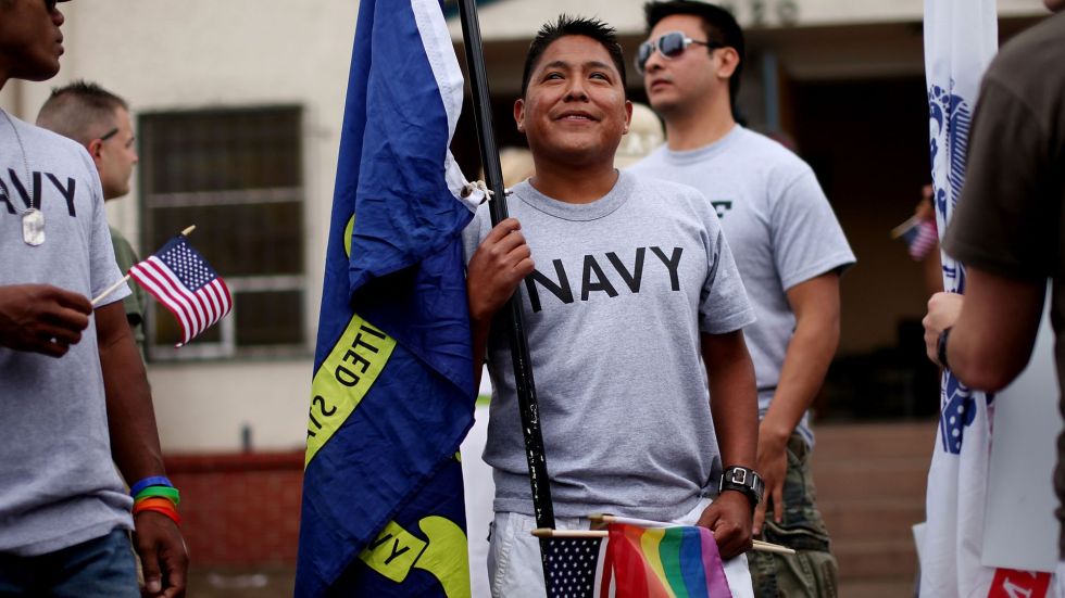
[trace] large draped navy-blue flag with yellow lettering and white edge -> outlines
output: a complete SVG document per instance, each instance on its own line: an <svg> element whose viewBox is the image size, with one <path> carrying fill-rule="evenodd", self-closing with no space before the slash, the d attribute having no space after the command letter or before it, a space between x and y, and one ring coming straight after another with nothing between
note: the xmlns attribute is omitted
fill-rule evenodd
<svg viewBox="0 0 1065 598"><path fill-rule="evenodd" d="M476 389L439 0L362 0L308 423L296 595L469 596L459 445Z"/></svg>

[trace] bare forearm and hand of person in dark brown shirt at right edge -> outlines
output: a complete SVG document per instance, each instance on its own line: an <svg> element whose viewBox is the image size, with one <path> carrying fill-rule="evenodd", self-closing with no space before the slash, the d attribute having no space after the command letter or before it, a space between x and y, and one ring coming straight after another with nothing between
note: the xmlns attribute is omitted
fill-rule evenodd
<svg viewBox="0 0 1065 598"><path fill-rule="evenodd" d="M947 360L951 371L967 386L1001 390L1028 365L1044 294L1044 282L967 268L964 297L937 293L928 301L922 323L929 358L939 364L939 334L950 328Z"/></svg>

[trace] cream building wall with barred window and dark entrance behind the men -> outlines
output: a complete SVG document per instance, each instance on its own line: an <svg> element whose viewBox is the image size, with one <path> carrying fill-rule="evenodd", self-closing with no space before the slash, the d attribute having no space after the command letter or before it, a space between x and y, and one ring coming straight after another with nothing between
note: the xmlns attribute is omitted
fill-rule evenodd
<svg viewBox="0 0 1065 598"><path fill-rule="evenodd" d="M888 240L927 177L923 2L727 3L749 31L740 96L749 126L795 139L859 254L844 278L840 354L895 346L899 322L924 307L919 272ZM999 7L1003 37L1043 14L1039 0ZM79 78L125 97L140 165L134 192L109 205L112 224L141 254L197 225L192 243L235 295L224 322L177 351L170 315L151 315L164 449L299 450L358 2L111 0L61 10L60 75L12 81L0 105L33 120L49 88ZM508 120L531 36L574 10L556 0L481 2L501 145L522 142ZM579 12L615 25L629 56L642 41L641 2L586 0ZM629 85L643 98L631 75ZM473 135L465 114L454 151L468 178L479 166Z"/></svg>

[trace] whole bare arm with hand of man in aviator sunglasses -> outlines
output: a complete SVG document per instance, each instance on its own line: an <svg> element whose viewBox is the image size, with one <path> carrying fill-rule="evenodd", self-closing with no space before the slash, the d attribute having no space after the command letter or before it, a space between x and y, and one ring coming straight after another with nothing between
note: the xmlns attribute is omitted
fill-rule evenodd
<svg viewBox="0 0 1065 598"><path fill-rule="evenodd" d="M766 500L754 517L755 534L762 532L769 500L774 519L779 522L784 516L788 438L817 395L839 345L839 275L828 272L795 284L788 290L788 303L795 315L795 332L773 403L759 427L757 470L765 481Z"/></svg>

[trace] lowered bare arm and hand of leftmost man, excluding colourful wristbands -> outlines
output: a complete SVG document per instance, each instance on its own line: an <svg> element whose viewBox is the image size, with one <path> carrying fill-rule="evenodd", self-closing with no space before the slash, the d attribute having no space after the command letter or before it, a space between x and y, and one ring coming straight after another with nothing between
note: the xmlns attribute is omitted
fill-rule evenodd
<svg viewBox="0 0 1065 598"><path fill-rule="evenodd" d="M96 321L111 454L130 484L164 475L151 391L122 302L97 309ZM184 596L188 554L177 525L153 511L138 513L134 523L134 547L145 568L149 595Z"/></svg>

